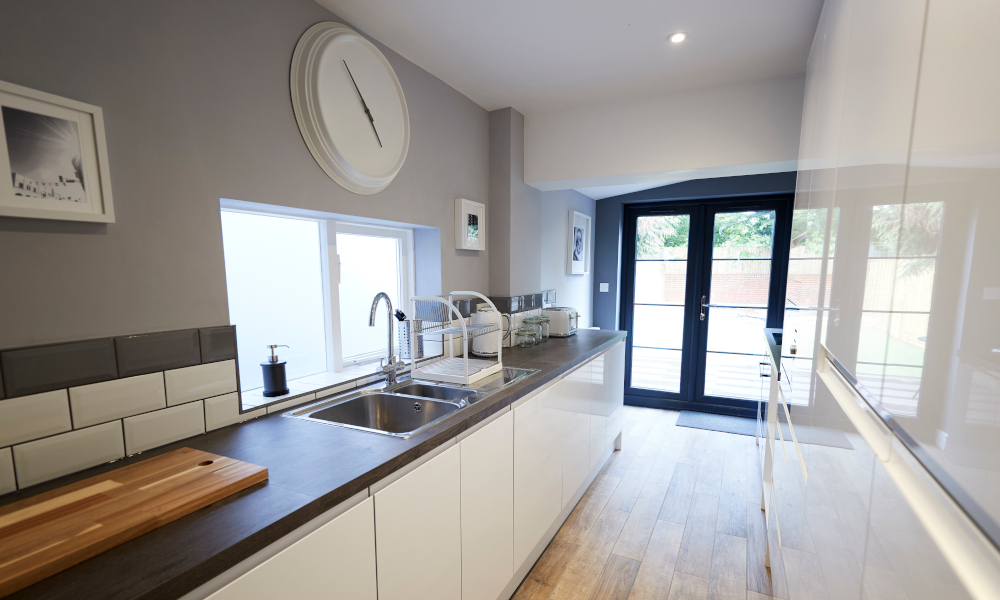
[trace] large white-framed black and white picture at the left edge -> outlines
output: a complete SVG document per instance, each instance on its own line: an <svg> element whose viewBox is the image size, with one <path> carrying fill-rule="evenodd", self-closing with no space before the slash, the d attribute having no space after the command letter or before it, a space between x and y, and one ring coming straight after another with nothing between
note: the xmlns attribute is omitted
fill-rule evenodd
<svg viewBox="0 0 1000 600"><path fill-rule="evenodd" d="M97 106L0 81L0 216L114 223Z"/></svg>

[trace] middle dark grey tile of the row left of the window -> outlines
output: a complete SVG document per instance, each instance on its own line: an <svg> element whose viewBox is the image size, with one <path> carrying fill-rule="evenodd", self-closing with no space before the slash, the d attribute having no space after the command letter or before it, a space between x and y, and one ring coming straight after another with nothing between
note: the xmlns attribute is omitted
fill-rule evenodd
<svg viewBox="0 0 1000 600"><path fill-rule="evenodd" d="M132 377L201 364L197 329L115 338L118 376Z"/></svg>

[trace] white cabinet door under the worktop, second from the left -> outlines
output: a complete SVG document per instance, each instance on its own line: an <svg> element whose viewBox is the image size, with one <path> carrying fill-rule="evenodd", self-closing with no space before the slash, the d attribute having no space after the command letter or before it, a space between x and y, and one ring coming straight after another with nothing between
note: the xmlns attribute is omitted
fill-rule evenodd
<svg viewBox="0 0 1000 600"><path fill-rule="evenodd" d="M375 494L379 600L461 600L460 457L455 445Z"/></svg>

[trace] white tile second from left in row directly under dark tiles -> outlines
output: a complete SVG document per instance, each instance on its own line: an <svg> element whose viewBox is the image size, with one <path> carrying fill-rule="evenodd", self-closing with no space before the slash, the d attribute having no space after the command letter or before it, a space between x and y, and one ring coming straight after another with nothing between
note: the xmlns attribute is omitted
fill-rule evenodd
<svg viewBox="0 0 1000 600"><path fill-rule="evenodd" d="M69 404L77 429L166 408L163 373L70 388Z"/></svg>

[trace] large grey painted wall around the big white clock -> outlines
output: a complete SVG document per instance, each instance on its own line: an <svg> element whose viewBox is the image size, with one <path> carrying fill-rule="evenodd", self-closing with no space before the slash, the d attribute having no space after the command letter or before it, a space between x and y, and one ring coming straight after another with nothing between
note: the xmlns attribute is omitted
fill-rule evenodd
<svg viewBox="0 0 1000 600"><path fill-rule="evenodd" d="M312 0L0 1L0 80L104 109L117 222L0 218L0 348L228 323L219 198L441 228L441 285L489 290L454 244L454 199L486 202L488 113L378 44L410 148L385 191L352 194L292 114ZM426 242L426 240L423 240Z"/></svg>

